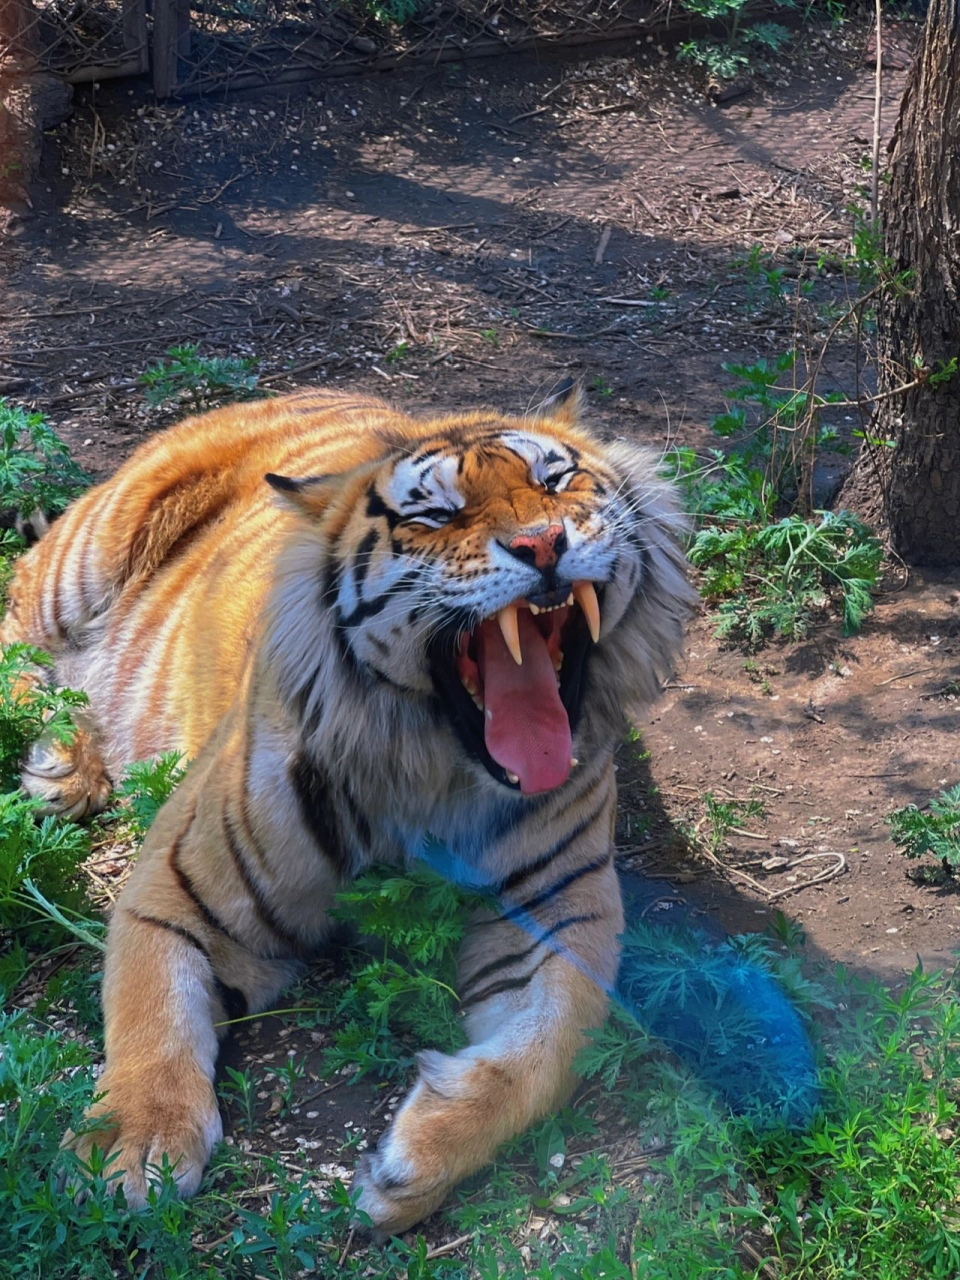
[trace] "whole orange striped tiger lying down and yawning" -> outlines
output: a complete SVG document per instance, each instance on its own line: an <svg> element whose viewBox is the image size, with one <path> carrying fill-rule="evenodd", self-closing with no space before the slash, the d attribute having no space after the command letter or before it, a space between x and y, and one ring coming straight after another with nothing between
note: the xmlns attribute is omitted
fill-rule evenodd
<svg viewBox="0 0 960 1280"><path fill-rule="evenodd" d="M197 1190L224 1024L303 972L338 890L428 837L494 895L458 959L468 1043L419 1055L356 1166L358 1221L419 1222L575 1089L623 929L614 749L690 607L675 486L582 416L576 387L518 415L324 388L228 404L22 557L0 641L88 696L23 790L83 818L128 762L191 762L113 910L105 1066L64 1138L106 1153L132 1210L164 1157Z"/></svg>

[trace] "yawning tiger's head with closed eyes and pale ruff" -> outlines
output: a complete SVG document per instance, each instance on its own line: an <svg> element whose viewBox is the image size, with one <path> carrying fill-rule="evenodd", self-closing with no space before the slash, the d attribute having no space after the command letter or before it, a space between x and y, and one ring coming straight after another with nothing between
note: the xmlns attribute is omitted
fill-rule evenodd
<svg viewBox="0 0 960 1280"><path fill-rule="evenodd" d="M671 488L643 449L584 430L576 394L534 419L398 421L342 475L268 477L310 517L288 580L319 534L340 673L433 709L503 787L552 791L678 654L689 589ZM329 687L323 660L293 666L303 704Z"/></svg>

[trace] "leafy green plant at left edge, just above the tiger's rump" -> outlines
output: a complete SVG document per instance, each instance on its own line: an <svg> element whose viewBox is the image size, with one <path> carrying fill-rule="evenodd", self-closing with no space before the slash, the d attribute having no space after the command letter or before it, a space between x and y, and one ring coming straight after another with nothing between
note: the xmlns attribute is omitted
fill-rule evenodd
<svg viewBox="0 0 960 1280"><path fill-rule="evenodd" d="M88 484L42 413L0 397L0 509L56 516Z"/></svg>

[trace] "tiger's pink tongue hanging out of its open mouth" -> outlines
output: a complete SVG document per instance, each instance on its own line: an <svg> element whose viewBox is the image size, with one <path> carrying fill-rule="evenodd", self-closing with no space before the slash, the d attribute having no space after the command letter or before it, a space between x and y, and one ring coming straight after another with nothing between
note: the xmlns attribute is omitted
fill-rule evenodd
<svg viewBox="0 0 960 1280"><path fill-rule="evenodd" d="M480 627L486 750L520 778L524 795L552 791L570 776L570 719L550 652L529 609L517 614L524 664L511 657L497 620Z"/></svg>

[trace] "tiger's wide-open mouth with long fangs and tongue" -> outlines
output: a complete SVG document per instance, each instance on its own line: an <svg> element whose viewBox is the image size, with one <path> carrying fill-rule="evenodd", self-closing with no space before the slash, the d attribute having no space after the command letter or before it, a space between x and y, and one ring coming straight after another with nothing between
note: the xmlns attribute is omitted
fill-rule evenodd
<svg viewBox="0 0 960 1280"><path fill-rule="evenodd" d="M566 582L433 648L447 714L498 782L535 795L567 781L586 658L599 635L594 584Z"/></svg>

